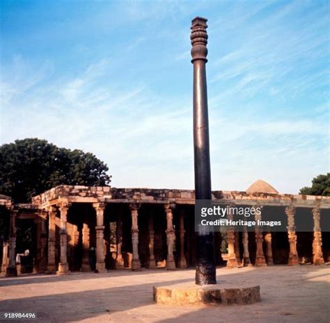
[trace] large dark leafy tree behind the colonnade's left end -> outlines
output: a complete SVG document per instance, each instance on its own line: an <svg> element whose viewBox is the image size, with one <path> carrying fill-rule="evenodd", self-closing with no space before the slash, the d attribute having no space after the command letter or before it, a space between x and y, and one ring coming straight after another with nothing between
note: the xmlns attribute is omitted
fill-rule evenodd
<svg viewBox="0 0 330 323"><path fill-rule="evenodd" d="M107 165L91 153L26 138L0 146L0 194L24 203L50 188L108 185Z"/></svg>

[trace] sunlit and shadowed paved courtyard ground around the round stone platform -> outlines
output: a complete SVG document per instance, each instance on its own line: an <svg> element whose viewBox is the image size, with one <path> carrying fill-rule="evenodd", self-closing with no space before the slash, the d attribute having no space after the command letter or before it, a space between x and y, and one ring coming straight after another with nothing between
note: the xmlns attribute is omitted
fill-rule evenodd
<svg viewBox="0 0 330 323"><path fill-rule="evenodd" d="M153 303L152 285L192 282L194 270L29 275L0 279L0 313L34 312L38 319L0 322L329 322L330 266L221 268L217 275L219 283L260 285L262 302L186 307Z"/></svg>

